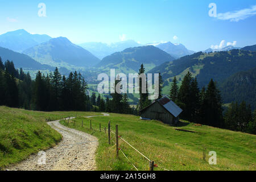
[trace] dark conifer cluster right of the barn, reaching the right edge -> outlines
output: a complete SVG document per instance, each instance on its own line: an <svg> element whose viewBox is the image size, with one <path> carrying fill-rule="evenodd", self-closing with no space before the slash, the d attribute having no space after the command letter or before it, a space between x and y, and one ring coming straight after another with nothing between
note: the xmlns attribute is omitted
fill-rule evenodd
<svg viewBox="0 0 256 182"><path fill-rule="evenodd" d="M174 77L169 97L183 112L180 117L187 121L220 127L224 129L256 134L256 115L251 112L250 105L232 103L224 112L220 91L216 82L210 80L207 88L199 89L197 78L188 72L181 85L177 85Z"/></svg>

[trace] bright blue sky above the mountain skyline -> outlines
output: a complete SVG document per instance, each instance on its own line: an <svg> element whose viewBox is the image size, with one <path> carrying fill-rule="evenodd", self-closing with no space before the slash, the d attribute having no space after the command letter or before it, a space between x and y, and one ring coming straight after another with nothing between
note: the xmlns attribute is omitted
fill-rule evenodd
<svg viewBox="0 0 256 182"><path fill-rule="evenodd" d="M46 17L38 5L46 5ZM217 6L210 17L209 3ZM133 39L182 43L194 51L209 47L256 44L256 1L0 1L0 34L25 29L73 43ZM223 41L225 40L225 42Z"/></svg>

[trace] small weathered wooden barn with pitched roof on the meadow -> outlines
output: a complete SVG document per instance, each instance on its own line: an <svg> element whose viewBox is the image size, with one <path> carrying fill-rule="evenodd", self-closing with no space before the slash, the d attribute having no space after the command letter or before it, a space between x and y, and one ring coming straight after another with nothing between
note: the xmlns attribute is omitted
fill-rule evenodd
<svg viewBox="0 0 256 182"><path fill-rule="evenodd" d="M142 119L155 119L171 125L176 125L181 112L182 109L167 97L160 98L139 111Z"/></svg>

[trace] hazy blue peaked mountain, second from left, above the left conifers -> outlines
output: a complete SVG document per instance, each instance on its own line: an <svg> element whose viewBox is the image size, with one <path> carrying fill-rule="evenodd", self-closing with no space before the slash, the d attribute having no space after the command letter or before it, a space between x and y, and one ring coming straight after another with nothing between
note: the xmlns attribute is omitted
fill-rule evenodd
<svg viewBox="0 0 256 182"><path fill-rule="evenodd" d="M55 67L92 67L100 62L92 53L63 37L50 39L24 50L23 53L39 63Z"/></svg>

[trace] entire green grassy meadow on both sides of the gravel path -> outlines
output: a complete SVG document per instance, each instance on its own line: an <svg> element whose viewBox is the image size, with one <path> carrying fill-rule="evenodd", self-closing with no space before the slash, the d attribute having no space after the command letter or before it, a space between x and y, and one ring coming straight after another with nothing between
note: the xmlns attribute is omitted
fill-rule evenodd
<svg viewBox="0 0 256 182"><path fill-rule="evenodd" d="M0 107L0 168L26 159L30 154L46 150L61 139L61 135L46 123L61 117L75 116L76 126L69 127L85 131L98 137L97 168L101 170L134 170L127 159L119 154L115 159L115 147L108 145L104 127L108 121L119 125L119 135L135 148L155 160L159 168L172 170L255 170L256 136L209 126L194 126L188 123L183 129L197 133L175 131L174 127L158 121L141 121L134 115L110 114L110 117L84 118L86 115L101 115L92 112L39 112ZM92 119L93 130L89 129ZM81 127L84 121L84 127ZM64 125L67 123L63 122ZM102 125L102 132L99 130ZM113 136L114 137L114 136ZM120 146L128 158L139 170L147 170L148 162L141 155L119 140ZM210 166L202 160L203 147L217 152L217 165ZM207 155L207 160L209 156Z"/></svg>

